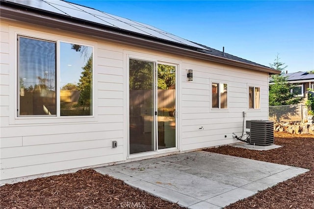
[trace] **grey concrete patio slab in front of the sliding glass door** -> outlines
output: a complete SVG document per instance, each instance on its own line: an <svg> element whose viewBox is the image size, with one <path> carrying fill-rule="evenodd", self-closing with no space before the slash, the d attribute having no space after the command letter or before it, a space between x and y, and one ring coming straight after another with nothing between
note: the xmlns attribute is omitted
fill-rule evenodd
<svg viewBox="0 0 314 209"><path fill-rule="evenodd" d="M95 170L190 209L223 208L308 171L205 151Z"/></svg>

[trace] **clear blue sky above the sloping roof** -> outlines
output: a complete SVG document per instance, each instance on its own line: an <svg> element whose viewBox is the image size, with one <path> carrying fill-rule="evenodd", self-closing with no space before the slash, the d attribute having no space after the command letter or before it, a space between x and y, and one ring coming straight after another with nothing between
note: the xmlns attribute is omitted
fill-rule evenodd
<svg viewBox="0 0 314 209"><path fill-rule="evenodd" d="M288 72L314 70L314 1L68 0Z"/></svg>

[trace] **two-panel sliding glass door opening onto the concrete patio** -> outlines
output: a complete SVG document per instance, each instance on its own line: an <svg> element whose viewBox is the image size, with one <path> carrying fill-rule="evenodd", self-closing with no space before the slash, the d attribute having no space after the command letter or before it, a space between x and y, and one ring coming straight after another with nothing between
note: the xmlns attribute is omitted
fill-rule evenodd
<svg viewBox="0 0 314 209"><path fill-rule="evenodd" d="M176 66L130 59L130 154L176 147Z"/></svg>

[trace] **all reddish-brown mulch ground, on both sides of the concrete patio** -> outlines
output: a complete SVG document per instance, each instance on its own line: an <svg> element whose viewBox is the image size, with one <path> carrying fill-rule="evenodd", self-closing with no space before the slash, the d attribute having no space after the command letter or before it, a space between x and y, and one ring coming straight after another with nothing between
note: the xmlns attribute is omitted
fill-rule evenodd
<svg viewBox="0 0 314 209"><path fill-rule="evenodd" d="M314 209L314 136L276 134L269 151L222 146L206 151L311 169L227 209ZM0 187L1 209L179 209L92 169Z"/></svg>

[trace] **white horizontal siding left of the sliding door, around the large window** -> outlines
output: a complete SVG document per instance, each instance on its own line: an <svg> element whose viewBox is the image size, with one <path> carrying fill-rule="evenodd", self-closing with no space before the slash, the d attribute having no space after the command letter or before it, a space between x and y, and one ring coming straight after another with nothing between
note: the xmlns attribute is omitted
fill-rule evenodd
<svg viewBox="0 0 314 209"><path fill-rule="evenodd" d="M43 118L42 123L10 124L9 97L15 95L9 91L15 87L9 83L9 73L15 67L9 63L8 46L15 43L9 43L9 35L14 34L9 34L8 27L2 28L7 31L1 31L0 39L1 180L126 160L123 49L106 42L94 48L95 120L82 122L78 117L74 122L58 123ZM117 148L111 148L112 140L118 142Z"/></svg>

